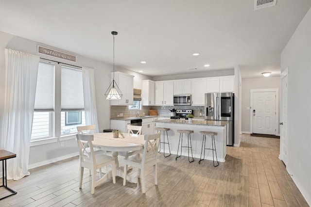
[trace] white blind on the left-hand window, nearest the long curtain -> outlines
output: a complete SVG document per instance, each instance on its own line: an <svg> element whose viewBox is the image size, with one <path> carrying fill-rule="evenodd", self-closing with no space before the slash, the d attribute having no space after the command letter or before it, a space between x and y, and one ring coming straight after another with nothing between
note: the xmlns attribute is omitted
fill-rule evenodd
<svg viewBox="0 0 311 207"><path fill-rule="evenodd" d="M54 64L39 62L35 111L54 110Z"/></svg>

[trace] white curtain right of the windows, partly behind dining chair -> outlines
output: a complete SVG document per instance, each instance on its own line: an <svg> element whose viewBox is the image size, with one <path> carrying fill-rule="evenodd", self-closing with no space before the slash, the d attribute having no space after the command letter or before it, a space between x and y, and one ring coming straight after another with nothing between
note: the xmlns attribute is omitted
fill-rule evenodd
<svg viewBox="0 0 311 207"><path fill-rule="evenodd" d="M82 67L82 79L86 125L95 125L95 132L98 132L99 128L97 123L94 69Z"/></svg>

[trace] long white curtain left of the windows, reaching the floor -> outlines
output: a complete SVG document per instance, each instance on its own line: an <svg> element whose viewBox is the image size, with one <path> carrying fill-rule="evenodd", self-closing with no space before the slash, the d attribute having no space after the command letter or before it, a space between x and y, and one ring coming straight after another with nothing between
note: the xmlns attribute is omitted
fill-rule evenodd
<svg viewBox="0 0 311 207"><path fill-rule="evenodd" d="M7 179L29 175L29 149L39 57L12 49L5 53L5 99L2 147L16 153L7 161Z"/></svg>

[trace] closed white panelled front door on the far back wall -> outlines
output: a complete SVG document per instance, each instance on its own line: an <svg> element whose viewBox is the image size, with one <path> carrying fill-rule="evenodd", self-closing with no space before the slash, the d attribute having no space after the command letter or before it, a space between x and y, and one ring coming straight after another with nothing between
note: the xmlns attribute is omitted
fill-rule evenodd
<svg viewBox="0 0 311 207"><path fill-rule="evenodd" d="M276 92L253 92L253 133L276 134Z"/></svg>

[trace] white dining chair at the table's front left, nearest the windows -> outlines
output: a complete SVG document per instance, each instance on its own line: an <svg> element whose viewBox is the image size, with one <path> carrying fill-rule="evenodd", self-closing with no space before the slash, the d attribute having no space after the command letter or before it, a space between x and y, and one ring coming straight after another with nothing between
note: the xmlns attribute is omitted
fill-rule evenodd
<svg viewBox="0 0 311 207"><path fill-rule="evenodd" d="M88 168L92 170L92 186L91 186L91 194L94 194L95 187L100 185L106 180L106 177L109 175L107 172L100 179L96 180L96 170L101 169L102 167L111 165L112 171L112 180L113 183L116 183L116 163L115 158L104 154L95 154L94 147L92 141L94 140L94 136L92 134L77 134L77 143L79 147L79 158L80 158L80 182L79 188L82 188L82 180L84 168ZM90 152L86 151L86 148L89 148Z"/></svg>

